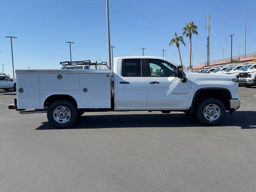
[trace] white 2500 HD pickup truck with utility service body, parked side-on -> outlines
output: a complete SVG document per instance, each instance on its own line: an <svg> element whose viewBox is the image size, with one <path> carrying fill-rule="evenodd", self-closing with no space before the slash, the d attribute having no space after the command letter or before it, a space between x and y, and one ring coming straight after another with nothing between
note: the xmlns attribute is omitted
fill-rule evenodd
<svg viewBox="0 0 256 192"><path fill-rule="evenodd" d="M189 72L160 57L114 58L113 71L16 70L16 77L17 99L8 108L47 112L58 128L84 112L131 110L183 111L212 125L240 106L236 77Z"/></svg>

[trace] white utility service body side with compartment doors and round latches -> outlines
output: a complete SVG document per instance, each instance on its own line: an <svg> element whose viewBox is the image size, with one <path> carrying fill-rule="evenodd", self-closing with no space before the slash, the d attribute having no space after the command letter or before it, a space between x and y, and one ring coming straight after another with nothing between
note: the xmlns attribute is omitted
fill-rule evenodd
<svg viewBox="0 0 256 192"><path fill-rule="evenodd" d="M43 109L56 94L72 96L78 108L111 108L111 70L16 70L17 108ZM62 78L58 79L57 76ZM19 89L23 88L23 92ZM87 92L83 89L87 88ZM61 96L59 98L61 100Z"/></svg>

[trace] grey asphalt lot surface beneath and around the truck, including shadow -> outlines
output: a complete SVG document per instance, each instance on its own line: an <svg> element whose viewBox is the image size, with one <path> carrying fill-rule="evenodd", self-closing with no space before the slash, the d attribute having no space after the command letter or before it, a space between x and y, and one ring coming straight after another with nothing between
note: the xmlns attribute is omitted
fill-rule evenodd
<svg viewBox="0 0 256 192"><path fill-rule="evenodd" d="M1 192L184 192L256 189L256 87L218 126L182 112L84 114L56 129L46 114L7 110L0 90Z"/></svg>

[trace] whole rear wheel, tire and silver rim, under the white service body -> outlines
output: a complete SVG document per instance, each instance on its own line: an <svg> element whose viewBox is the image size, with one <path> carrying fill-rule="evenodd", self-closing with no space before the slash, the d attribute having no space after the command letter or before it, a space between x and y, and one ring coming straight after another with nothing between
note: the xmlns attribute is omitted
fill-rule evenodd
<svg viewBox="0 0 256 192"><path fill-rule="evenodd" d="M49 106L47 118L50 124L56 128L69 128L76 123L78 110L70 101L56 101Z"/></svg>

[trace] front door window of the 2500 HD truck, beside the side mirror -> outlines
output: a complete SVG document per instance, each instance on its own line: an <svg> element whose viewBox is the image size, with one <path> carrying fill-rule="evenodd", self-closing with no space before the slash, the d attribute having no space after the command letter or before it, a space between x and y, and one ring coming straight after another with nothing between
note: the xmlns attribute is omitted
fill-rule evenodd
<svg viewBox="0 0 256 192"><path fill-rule="evenodd" d="M151 77L174 77L177 75L176 66L159 59L148 59Z"/></svg>

